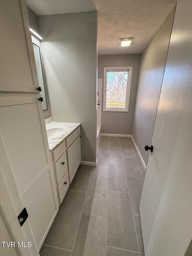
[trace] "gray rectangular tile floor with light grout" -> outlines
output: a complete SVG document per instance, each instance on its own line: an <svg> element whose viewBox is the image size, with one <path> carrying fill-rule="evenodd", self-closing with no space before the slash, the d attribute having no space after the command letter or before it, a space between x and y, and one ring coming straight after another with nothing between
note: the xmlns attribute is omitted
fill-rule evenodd
<svg viewBox="0 0 192 256"><path fill-rule="evenodd" d="M145 170L131 138L102 136L97 159L79 166L41 256L144 256Z"/></svg>

